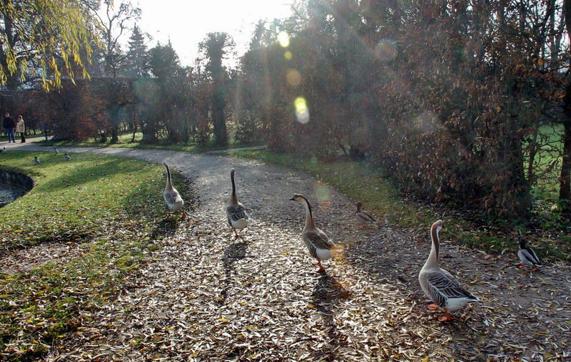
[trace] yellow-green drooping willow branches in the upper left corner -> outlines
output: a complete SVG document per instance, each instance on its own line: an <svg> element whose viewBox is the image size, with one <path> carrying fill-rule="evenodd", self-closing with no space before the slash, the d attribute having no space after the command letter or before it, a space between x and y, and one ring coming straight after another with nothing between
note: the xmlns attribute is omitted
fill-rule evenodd
<svg viewBox="0 0 571 362"><path fill-rule="evenodd" d="M40 78L44 88L61 86L61 77L89 77L93 0L4 0L0 2L0 83L16 89Z"/></svg>

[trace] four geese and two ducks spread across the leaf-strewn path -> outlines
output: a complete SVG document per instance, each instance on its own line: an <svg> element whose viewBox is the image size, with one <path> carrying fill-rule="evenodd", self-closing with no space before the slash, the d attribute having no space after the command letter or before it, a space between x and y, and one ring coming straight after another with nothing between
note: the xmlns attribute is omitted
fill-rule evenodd
<svg viewBox="0 0 571 362"><path fill-rule="evenodd" d="M176 188L173 187L170 168L166 162L164 162L163 165L166 168L167 175L163 197L170 214L171 212L183 210L184 201ZM236 181L234 180L235 174L235 170L230 171L232 194L230 200L228 200L228 203L226 204L226 216L228 217L228 225L233 229L236 237L239 237L236 230L241 230L248 226L248 214L246 214L246 210L243 205L238 202ZM318 272L323 272L325 269L323 268L321 261L330 259L331 251L334 249L335 243L329 239L323 230L315 226L311 204L307 197L301 194L295 194L290 198L290 200L303 205L305 210L305 226L301 232L301 239L303 240L305 247L307 247L310 256L316 260L315 264L319 266ZM367 212L362 211L361 207L362 204L358 202L357 211L353 213L353 219L355 219L361 227L364 227L366 223L375 222L375 219ZM186 217L186 214L183 211L183 218L184 217ZM443 310L444 315L439 316L438 319L440 321L451 321L451 311L458 311L458 309L461 309L468 302L478 301L478 299L461 286L452 274L445 269L440 268L440 265L438 264L440 253L439 232L443 228L444 222L442 220L436 221L432 224L432 227L430 227L432 247L430 249L430 254L428 254L428 259L426 259L423 268L420 269L418 281L426 296L433 301L433 304L428 305L428 309ZM524 265L529 267L537 267L540 265L540 261L535 252L533 252L532 249L525 247L525 241L521 238L520 250L517 252L517 255L520 257L522 267Z"/></svg>

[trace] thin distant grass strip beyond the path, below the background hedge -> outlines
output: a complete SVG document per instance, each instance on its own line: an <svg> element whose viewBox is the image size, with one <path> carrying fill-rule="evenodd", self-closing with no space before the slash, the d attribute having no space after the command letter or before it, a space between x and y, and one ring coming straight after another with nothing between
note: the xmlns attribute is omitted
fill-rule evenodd
<svg viewBox="0 0 571 362"><path fill-rule="evenodd" d="M143 134L138 132L135 135L135 142L131 143L133 133L123 133L119 136L118 143L99 143L93 138L86 141L59 141L54 142L51 140L41 140L37 142L40 145L45 146L56 146L56 147L111 147L111 148L150 148L155 150L173 150L173 151L184 151L184 152L205 152L213 150L226 150L229 148L242 148L252 145L241 145L238 143L229 143L226 146L217 146L208 143L206 146L197 145L196 143L169 143L167 140L158 140L158 143L150 145L146 143L141 143Z"/></svg>

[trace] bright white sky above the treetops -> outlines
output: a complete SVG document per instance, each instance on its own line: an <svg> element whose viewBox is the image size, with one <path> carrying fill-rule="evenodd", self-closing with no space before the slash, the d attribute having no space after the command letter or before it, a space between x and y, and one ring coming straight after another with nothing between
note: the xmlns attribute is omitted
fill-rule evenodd
<svg viewBox="0 0 571 362"><path fill-rule="evenodd" d="M259 19L281 19L290 15L294 0L131 0L141 8L141 30L157 41L171 40L183 66L198 56L198 43L207 33L226 31L236 42L238 56L248 48ZM126 36L128 39L128 36Z"/></svg>

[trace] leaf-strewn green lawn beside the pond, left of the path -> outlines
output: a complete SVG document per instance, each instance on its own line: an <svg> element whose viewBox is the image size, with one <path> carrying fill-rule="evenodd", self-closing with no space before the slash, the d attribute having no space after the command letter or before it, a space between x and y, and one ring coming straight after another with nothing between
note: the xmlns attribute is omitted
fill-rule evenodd
<svg viewBox="0 0 571 362"><path fill-rule="evenodd" d="M40 165L32 162L39 155ZM0 274L0 359L27 360L82 328L86 311L108 303L124 278L156 249L173 219L163 219L163 167L139 160L13 151L0 167L36 180L0 209L4 253L44 242L80 243L79 257L27 272ZM188 186L174 175L188 200ZM79 311L84 313L79 314Z"/></svg>

